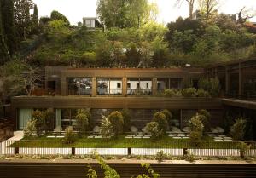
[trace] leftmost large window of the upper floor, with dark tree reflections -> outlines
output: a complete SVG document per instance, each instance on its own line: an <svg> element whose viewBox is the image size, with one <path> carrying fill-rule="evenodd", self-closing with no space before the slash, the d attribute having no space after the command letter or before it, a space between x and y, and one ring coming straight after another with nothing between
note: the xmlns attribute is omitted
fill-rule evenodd
<svg viewBox="0 0 256 178"><path fill-rule="evenodd" d="M68 95L91 95L91 78L67 78Z"/></svg>

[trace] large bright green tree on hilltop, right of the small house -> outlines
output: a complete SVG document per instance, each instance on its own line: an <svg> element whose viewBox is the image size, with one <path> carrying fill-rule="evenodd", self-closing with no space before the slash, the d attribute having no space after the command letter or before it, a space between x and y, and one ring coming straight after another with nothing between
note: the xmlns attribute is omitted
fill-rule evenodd
<svg viewBox="0 0 256 178"><path fill-rule="evenodd" d="M96 14L107 28L140 27L155 18L156 9L148 0L98 0Z"/></svg>

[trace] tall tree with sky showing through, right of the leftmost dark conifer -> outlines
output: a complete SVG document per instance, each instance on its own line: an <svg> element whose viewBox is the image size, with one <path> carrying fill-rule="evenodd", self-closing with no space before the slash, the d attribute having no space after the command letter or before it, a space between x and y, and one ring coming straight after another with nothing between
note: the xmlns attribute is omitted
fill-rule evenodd
<svg viewBox="0 0 256 178"><path fill-rule="evenodd" d="M14 0L15 26L20 40L26 39L32 26L30 9L33 8L32 0Z"/></svg>

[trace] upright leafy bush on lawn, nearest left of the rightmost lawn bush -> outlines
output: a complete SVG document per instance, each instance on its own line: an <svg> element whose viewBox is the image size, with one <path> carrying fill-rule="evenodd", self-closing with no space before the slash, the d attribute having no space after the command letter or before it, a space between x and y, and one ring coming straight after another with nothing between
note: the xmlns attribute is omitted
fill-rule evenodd
<svg viewBox="0 0 256 178"><path fill-rule="evenodd" d="M189 120L189 127L191 129L190 139L192 141L201 140L204 125L201 121L201 117L196 113L196 115Z"/></svg>

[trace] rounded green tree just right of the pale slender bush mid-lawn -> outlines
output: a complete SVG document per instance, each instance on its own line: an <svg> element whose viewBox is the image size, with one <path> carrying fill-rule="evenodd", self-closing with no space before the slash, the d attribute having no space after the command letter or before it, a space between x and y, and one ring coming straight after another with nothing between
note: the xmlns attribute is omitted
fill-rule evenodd
<svg viewBox="0 0 256 178"><path fill-rule="evenodd" d="M123 132L124 117L121 112L111 112L108 115L109 121L112 123L114 135L117 137Z"/></svg>

